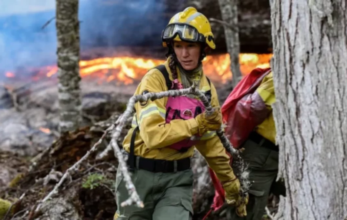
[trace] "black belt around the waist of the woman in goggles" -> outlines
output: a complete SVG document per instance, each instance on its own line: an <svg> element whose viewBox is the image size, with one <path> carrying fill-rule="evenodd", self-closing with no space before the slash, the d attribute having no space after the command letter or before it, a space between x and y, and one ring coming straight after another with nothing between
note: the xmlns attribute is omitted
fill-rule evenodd
<svg viewBox="0 0 347 220"><path fill-rule="evenodd" d="M174 173L191 169L191 159L189 157L180 160L158 160L139 157L134 155L134 164L127 160L130 168L143 169L153 173Z"/></svg>

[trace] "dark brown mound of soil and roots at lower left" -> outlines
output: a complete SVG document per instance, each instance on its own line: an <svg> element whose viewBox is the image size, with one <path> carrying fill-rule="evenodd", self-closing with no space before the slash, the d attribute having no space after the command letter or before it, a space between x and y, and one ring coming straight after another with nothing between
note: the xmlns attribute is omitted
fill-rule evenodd
<svg viewBox="0 0 347 220"><path fill-rule="evenodd" d="M62 135L49 150L37 155L39 160L34 167L32 166L35 157L25 158L15 153L2 152L0 164L16 169L17 175L8 186L1 188L0 197L13 201L13 198L19 198L25 193L23 199L15 205L15 210L18 217L24 214L24 211L32 211L36 202L53 189L62 174L100 139L101 127L83 127ZM72 203L75 211L83 219L112 219L117 208L113 184L118 162L113 156L103 160L97 160L95 157L96 153L92 153L82 162L71 178L63 184L59 197Z"/></svg>

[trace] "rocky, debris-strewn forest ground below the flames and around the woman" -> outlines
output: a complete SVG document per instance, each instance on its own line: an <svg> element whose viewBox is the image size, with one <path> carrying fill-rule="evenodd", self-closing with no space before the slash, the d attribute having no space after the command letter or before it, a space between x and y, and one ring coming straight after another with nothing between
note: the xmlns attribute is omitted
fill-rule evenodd
<svg viewBox="0 0 347 220"><path fill-rule="evenodd" d="M59 195L44 203L41 212L33 215L33 210L62 174L116 122L135 87L84 82L84 124L77 131L58 137L54 83L42 81L0 90L0 198L13 203L5 219L112 219L117 209L113 186L117 160L113 155L103 160L95 159L100 151L82 162L64 182ZM227 87L218 89L221 103L230 90ZM129 126L130 120L118 140L120 146ZM110 137L106 137L100 144L101 150L109 140ZM201 219L209 210L214 189L206 162L198 152L194 155L193 169L194 219ZM276 204L269 205L276 208ZM225 212L216 213L211 219L223 216Z"/></svg>

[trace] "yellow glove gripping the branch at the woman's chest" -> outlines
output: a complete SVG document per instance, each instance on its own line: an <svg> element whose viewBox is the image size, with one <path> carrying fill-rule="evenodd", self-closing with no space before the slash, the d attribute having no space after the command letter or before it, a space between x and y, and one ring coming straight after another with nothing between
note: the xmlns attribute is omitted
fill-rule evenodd
<svg viewBox="0 0 347 220"><path fill-rule="evenodd" d="M206 131L217 131L222 126L222 114L219 108L213 108L213 110L209 115L203 112L195 117L199 135L203 135Z"/></svg>

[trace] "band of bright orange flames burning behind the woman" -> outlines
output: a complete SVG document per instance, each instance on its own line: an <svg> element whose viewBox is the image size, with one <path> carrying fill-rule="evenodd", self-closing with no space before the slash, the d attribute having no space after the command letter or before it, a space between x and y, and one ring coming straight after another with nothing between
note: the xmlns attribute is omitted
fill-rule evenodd
<svg viewBox="0 0 347 220"><path fill-rule="evenodd" d="M272 54L240 54L239 62L242 74L246 75L257 67L269 67L271 56ZM164 60L119 56L82 60L79 64L82 78L92 78L100 83L115 81L128 85L135 80L141 80L149 69L162 62ZM226 83L232 78L229 54L206 56L203 60L203 69L206 76L213 81ZM39 79L42 75L52 77L56 75L57 71L57 66L39 68L34 79ZM6 72L5 75L15 77L13 72Z"/></svg>

